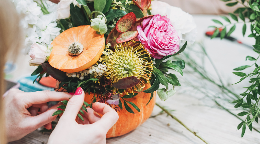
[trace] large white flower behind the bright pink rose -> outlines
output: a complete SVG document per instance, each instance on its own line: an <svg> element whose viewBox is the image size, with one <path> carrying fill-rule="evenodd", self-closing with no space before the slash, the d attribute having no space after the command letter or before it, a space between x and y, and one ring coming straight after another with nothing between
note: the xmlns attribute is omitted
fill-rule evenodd
<svg viewBox="0 0 260 144"><path fill-rule="evenodd" d="M193 44L196 40L197 29L194 18L189 13L184 12L179 7L174 7L162 1L151 1L151 14L167 16L178 32L180 40Z"/></svg>

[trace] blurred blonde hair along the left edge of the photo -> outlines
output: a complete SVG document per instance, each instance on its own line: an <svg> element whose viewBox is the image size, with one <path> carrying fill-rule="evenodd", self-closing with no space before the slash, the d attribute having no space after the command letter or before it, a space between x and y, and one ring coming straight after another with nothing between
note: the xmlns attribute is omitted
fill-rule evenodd
<svg viewBox="0 0 260 144"><path fill-rule="evenodd" d="M0 0L0 144L6 143L5 115L2 95L5 92L4 65L7 54L15 58L23 43L20 17L11 0Z"/></svg>

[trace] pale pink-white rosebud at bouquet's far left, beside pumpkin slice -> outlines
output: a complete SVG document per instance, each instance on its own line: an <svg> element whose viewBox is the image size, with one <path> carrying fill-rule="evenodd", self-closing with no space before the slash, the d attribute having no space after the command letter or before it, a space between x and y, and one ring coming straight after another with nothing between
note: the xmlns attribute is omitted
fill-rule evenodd
<svg viewBox="0 0 260 144"><path fill-rule="evenodd" d="M30 66L37 66L41 65L47 60L47 57L50 56L50 52L47 51L46 46L42 46L38 43L34 43L31 45L31 50L29 52L29 55L31 56L31 60L29 60Z"/></svg>

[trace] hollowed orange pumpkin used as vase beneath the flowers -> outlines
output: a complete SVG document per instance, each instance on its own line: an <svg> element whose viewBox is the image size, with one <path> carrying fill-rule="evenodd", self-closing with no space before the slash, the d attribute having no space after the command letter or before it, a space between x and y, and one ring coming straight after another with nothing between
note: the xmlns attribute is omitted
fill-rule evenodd
<svg viewBox="0 0 260 144"><path fill-rule="evenodd" d="M149 83L145 84L144 90L150 88L151 85ZM134 111L134 113L129 113L124 106L124 102L122 101L122 107L123 110L120 109L120 111L117 111L119 115L119 119L114 124L112 128L107 132L106 138L110 137L117 137L123 134L126 134L138 126L140 126L142 123L144 123L151 115L153 111L153 107L155 105L155 97L156 92L154 92L154 96L151 99L150 103L146 105L151 97L151 93L145 93L143 91L137 92L138 94L132 98L127 98L127 101L131 101L135 105L138 106L141 112L138 112L135 108L133 108L131 105L128 104L128 106ZM125 93L123 93L120 96L124 96ZM86 93L85 94L85 101L87 103L91 103L93 100L93 93ZM97 100L98 101L98 100ZM146 105L146 106L145 106ZM77 119L76 119L77 120Z"/></svg>

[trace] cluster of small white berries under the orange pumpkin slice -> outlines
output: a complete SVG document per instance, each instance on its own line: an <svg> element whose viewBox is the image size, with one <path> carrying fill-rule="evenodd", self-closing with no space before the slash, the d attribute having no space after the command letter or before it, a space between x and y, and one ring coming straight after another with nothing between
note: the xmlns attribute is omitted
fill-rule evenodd
<svg viewBox="0 0 260 144"><path fill-rule="evenodd" d="M66 73L68 77L78 77L80 80L84 79L84 76L87 76L88 74L92 75L94 73L94 77L99 77L103 73L107 71L107 66L99 64L98 66L92 65L90 68L85 69L83 71L79 71L76 73Z"/></svg>

